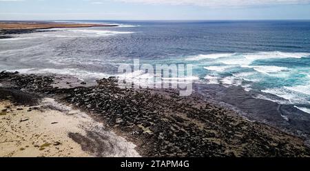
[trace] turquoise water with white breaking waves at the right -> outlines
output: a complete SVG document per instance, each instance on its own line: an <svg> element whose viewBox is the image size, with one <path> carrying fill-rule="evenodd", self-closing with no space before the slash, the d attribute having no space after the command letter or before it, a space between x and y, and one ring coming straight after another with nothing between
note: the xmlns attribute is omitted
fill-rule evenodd
<svg viewBox="0 0 310 171"><path fill-rule="evenodd" d="M266 92L258 98L293 103L309 112L310 54L299 52L251 52L207 54L189 57L196 74L205 83L242 86L246 91Z"/></svg>

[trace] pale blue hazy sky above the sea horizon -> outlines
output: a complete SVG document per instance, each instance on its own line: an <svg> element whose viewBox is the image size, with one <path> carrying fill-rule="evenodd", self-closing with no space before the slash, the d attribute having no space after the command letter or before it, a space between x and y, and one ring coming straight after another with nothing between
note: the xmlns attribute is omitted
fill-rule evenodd
<svg viewBox="0 0 310 171"><path fill-rule="evenodd" d="M310 19L310 0L0 0L0 20Z"/></svg>

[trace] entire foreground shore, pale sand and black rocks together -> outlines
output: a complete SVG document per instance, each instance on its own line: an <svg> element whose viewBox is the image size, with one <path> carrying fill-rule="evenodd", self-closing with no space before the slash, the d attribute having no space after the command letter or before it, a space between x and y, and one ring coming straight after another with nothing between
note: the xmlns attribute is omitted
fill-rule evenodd
<svg viewBox="0 0 310 171"><path fill-rule="evenodd" d="M0 157L310 154L304 139L194 94L121 89L114 77L90 86L56 75L0 72L0 83Z"/></svg>

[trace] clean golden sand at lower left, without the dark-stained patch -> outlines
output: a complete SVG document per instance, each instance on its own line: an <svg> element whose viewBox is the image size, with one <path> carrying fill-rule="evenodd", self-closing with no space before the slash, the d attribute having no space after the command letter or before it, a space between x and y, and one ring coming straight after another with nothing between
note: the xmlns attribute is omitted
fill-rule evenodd
<svg viewBox="0 0 310 171"><path fill-rule="evenodd" d="M1 157L90 157L68 137L83 132L79 120L56 110L0 103Z"/></svg>

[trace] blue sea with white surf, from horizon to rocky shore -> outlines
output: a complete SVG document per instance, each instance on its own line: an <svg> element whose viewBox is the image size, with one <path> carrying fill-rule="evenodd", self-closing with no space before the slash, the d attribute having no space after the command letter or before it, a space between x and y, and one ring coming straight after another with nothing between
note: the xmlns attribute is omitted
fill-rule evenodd
<svg viewBox="0 0 310 171"><path fill-rule="evenodd" d="M1 39L0 70L99 79L117 75L120 63L137 58L190 63L200 83L242 86L257 98L310 113L310 21L70 22L120 27L52 29Z"/></svg>

